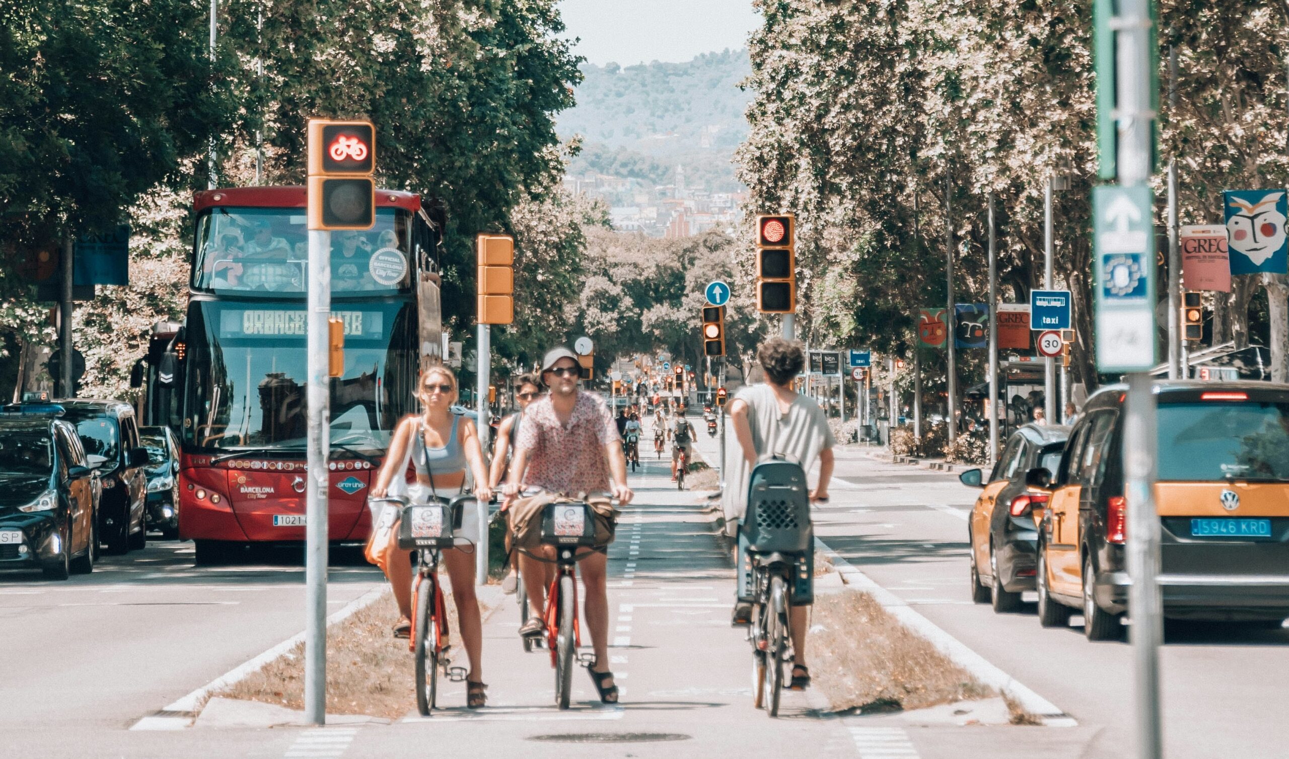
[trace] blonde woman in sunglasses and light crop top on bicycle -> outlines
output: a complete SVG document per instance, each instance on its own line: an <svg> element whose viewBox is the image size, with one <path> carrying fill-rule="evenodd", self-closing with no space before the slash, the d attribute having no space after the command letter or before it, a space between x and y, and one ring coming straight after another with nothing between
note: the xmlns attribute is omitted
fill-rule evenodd
<svg viewBox="0 0 1289 759"><path fill-rule="evenodd" d="M486 504L492 497L492 491L487 486L487 470L483 466L483 451L480 447L474 421L451 410L456 401L456 375L442 366L431 367L420 376L418 398L424 411L419 416L407 416L398 423L389 441L385 464L371 487L371 496L384 497L393 478L406 476L410 461L416 470L412 497L428 499L437 495L449 500L464 488L465 468L469 465L474 477L474 497ZM456 537L478 545L482 539L478 532L478 521L467 518L461 521ZM394 533L397 535L397 527ZM451 548L443 550L443 564L452 582L461 643L470 662L465 678L465 704L470 709L478 709L487 701L485 695L487 686L482 680L483 625L480 619L478 599L474 595L474 557ZM394 625L394 637L407 638L411 634L411 552L398 550L396 545L391 545L385 575L398 602L400 619Z"/></svg>

